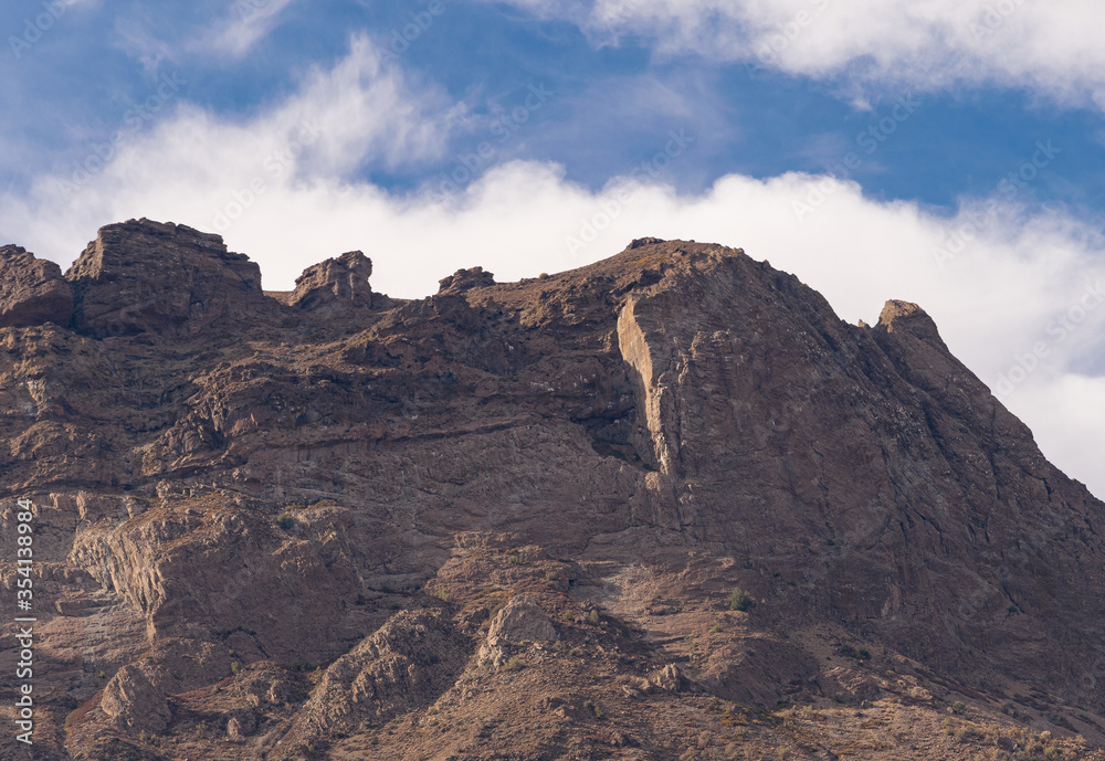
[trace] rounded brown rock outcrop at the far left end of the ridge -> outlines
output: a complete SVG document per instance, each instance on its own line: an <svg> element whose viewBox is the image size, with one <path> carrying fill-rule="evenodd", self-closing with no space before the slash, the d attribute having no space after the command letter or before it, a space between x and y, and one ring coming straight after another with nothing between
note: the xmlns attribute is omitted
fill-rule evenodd
<svg viewBox="0 0 1105 761"><path fill-rule="evenodd" d="M0 247L0 328L65 327L72 313L73 292L61 267L19 246Z"/></svg>

